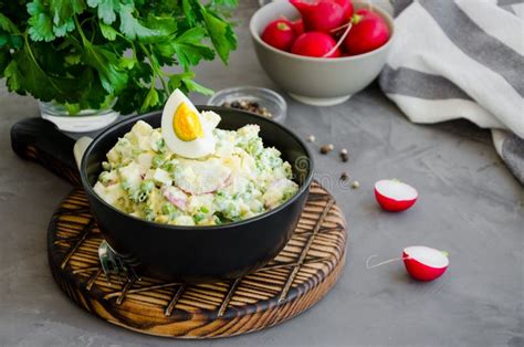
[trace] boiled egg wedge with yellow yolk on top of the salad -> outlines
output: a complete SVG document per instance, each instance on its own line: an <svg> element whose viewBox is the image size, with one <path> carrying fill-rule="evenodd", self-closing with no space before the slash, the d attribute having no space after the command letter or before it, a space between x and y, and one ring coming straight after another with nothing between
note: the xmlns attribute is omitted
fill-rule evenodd
<svg viewBox="0 0 524 347"><path fill-rule="evenodd" d="M213 112L200 114L189 98L176 90L164 106L161 135L172 153L191 159L201 158L214 153L213 129L219 123L219 115Z"/></svg>

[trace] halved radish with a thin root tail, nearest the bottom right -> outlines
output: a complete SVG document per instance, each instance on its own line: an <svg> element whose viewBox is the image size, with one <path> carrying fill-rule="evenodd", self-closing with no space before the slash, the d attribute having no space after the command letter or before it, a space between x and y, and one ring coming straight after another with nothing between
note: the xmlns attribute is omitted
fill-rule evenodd
<svg viewBox="0 0 524 347"><path fill-rule="evenodd" d="M450 261L446 252L425 245L404 249L404 264L408 273L418 281L433 281L448 269Z"/></svg>

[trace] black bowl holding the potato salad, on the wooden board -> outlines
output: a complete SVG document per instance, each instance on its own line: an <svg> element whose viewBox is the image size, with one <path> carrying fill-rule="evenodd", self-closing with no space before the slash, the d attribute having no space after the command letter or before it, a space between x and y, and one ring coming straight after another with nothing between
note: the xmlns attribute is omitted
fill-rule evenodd
<svg viewBox="0 0 524 347"><path fill-rule="evenodd" d="M222 117L223 129L258 124L264 146L274 146L293 167L298 192L282 206L243 221L213 227L176 227L148 222L125 214L101 199L93 186L102 171L102 161L119 137L137 120L160 126L161 113L128 117L99 134L86 149L82 165L82 185L93 215L106 241L118 253L137 259L147 271L165 280L212 282L245 275L265 265L290 240L313 177L312 156L304 143L283 126L245 112L202 106Z"/></svg>

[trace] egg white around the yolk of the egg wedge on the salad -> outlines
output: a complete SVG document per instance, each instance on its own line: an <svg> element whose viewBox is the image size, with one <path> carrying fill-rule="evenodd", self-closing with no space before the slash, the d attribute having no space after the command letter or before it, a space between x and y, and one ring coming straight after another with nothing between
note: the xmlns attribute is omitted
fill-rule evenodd
<svg viewBox="0 0 524 347"><path fill-rule="evenodd" d="M202 125L203 136L199 137L192 141L184 141L178 138L177 134L175 134L175 129L172 128L172 118L175 117L175 113L180 106L181 103L186 103L189 108L191 108L195 114L197 114L200 123ZM214 146L217 140L213 136L213 129L217 127L218 122L209 117L203 117L195 107L195 105L184 95L182 92L176 90L168 98L166 106L164 107L163 116L161 116L161 135L164 140L166 141L167 147L172 150L175 154L186 157L186 158L201 158L214 153Z"/></svg>

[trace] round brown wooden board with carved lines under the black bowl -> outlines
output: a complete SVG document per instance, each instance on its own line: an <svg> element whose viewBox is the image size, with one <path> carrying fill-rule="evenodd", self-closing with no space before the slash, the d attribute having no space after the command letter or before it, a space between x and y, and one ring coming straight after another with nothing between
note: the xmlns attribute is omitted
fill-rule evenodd
<svg viewBox="0 0 524 347"><path fill-rule="evenodd" d="M122 327L177 338L251 333L290 319L318 302L342 273L346 222L333 197L314 182L295 233L263 269L235 281L166 283L149 276L107 283L103 241L82 189L54 213L49 263L64 293L82 308Z"/></svg>

